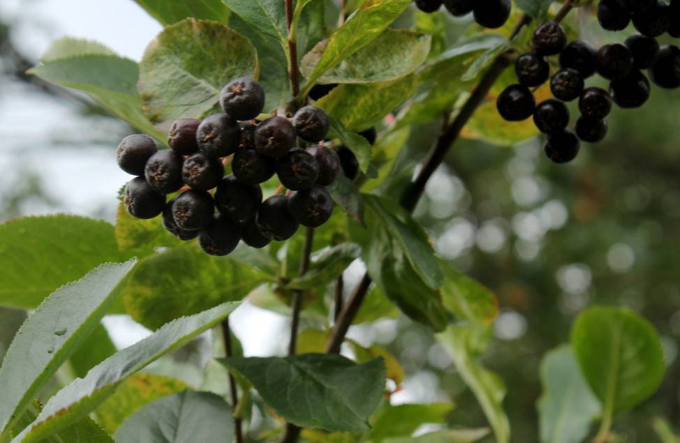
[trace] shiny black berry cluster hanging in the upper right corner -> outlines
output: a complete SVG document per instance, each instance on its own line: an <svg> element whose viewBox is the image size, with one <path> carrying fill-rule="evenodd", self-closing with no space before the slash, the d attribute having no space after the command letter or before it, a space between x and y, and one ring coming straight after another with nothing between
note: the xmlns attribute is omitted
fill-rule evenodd
<svg viewBox="0 0 680 443"><path fill-rule="evenodd" d="M607 135L607 115L612 102L622 108L641 107L650 96L650 84L642 72L659 87L680 87L680 49L660 47L656 37L663 33L680 36L680 0L670 4L659 0L601 0L600 25L609 31L625 29L632 21L639 32L624 43L603 45L596 50L583 40L567 42L563 27L555 22L541 24L533 33L532 52L515 63L517 84L498 96L498 113L508 121L533 116L536 127L547 134L545 153L555 163L573 160L579 140L600 142ZM548 57L559 56L559 70L551 76ZM609 81L609 91L586 87L594 74ZM538 105L530 88L550 81L554 98ZM570 113L565 102L579 99L580 116L574 130L568 130Z"/></svg>

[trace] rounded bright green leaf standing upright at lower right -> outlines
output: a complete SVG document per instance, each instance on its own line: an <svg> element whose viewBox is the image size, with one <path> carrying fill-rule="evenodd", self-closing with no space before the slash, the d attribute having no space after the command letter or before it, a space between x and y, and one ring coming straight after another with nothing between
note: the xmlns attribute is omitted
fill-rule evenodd
<svg viewBox="0 0 680 443"><path fill-rule="evenodd" d="M628 308L584 310L572 327L571 343L605 416L646 400L663 380L658 333Z"/></svg>

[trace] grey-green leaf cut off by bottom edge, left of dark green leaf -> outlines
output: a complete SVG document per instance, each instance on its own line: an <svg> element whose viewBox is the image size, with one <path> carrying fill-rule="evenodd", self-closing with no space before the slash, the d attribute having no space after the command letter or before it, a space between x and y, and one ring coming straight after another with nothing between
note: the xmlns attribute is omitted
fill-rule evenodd
<svg viewBox="0 0 680 443"><path fill-rule="evenodd" d="M118 443L230 442L231 407L214 393L182 391L154 401L117 430Z"/></svg>

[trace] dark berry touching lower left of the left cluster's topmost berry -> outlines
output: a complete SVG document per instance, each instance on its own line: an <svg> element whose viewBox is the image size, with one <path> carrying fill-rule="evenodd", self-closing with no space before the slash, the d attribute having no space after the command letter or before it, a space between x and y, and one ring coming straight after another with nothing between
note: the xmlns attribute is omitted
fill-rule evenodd
<svg viewBox="0 0 680 443"><path fill-rule="evenodd" d="M239 146L241 127L227 114L206 117L196 133L198 149L206 156L222 158L230 156Z"/></svg>

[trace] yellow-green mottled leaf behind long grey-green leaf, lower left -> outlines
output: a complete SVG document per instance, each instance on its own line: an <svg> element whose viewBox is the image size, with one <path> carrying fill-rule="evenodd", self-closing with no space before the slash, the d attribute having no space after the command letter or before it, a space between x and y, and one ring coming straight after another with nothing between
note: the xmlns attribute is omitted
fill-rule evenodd
<svg viewBox="0 0 680 443"><path fill-rule="evenodd" d="M141 407L184 389L186 384L172 377L135 374L99 405L96 411L97 419L108 433L114 433L128 416Z"/></svg>

